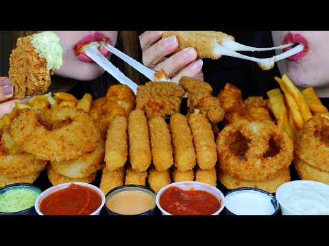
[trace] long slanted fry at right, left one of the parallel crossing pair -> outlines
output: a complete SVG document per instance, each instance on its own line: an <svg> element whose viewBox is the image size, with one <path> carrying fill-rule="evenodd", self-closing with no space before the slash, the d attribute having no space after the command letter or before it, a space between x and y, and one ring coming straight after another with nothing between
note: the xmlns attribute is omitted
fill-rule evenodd
<svg viewBox="0 0 329 246"><path fill-rule="evenodd" d="M276 79L276 81L279 83L280 88L284 93L285 104L287 105L287 107L289 108L292 114L295 125L298 128L302 128L304 126L305 121L302 112L300 111L300 107L298 106L295 98L290 94L289 90L287 89L282 79L280 79L279 77L274 77L274 79Z"/></svg>

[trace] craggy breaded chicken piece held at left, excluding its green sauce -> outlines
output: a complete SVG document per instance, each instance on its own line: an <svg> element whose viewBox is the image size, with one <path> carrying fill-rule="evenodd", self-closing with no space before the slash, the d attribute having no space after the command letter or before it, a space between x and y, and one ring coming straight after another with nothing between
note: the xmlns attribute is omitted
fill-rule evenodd
<svg viewBox="0 0 329 246"><path fill-rule="evenodd" d="M53 71L48 71L47 61L35 51L31 36L17 39L16 49L9 58L9 78L14 86L14 97L43 94L47 91Z"/></svg>

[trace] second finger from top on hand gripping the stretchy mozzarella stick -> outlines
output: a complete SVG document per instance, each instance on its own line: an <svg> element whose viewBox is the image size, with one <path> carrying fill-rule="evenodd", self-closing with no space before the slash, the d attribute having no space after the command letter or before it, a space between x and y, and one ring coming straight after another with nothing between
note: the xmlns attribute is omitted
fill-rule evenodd
<svg viewBox="0 0 329 246"><path fill-rule="evenodd" d="M167 55L170 55L178 48L178 40L176 36L171 36L159 40L155 44L149 46L149 48L143 51L143 64L149 68L154 67L164 59Z"/></svg>

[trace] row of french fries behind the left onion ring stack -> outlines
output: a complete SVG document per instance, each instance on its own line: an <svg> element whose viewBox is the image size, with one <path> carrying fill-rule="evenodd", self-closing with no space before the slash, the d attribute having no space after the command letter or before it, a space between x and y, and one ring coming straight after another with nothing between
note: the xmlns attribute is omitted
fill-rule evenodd
<svg viewBox="0 0 329 246"><path fill-rule="evenodd" d="M58 105L59 107L69 105L89 113L92 100L93 97L88 93L84 94L81 99L77 99L72 94L66 92L56 92L53 93L53 96L51 95L51 92L43 95L33 96L25 102L15 102L15 107L12 112L3 115L3 117L0 119L0 128L3 128L3 126L10 126L12 120L16 118L17 111L19 111L19 109L50 109L54 105Z"/></svg>

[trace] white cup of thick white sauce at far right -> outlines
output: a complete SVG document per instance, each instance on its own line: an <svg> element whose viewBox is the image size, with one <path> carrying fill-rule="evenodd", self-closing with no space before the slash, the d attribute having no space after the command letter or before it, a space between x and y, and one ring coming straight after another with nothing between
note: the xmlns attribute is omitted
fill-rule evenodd
<svg viewBox="0 0 329 246"><path fill-rule="evenodd" d="M329 215L329 185L317 182L287 185L279 202L300 215Z"/></svg>

